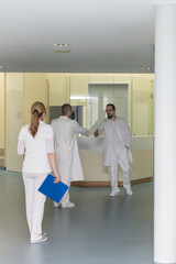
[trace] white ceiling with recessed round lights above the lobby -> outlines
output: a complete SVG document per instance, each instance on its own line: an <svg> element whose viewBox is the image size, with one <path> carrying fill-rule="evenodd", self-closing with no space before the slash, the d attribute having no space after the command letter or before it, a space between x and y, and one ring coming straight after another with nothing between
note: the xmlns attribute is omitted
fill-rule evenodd
<svg viewBox="0 0 176 264"><path fill-rule="evenodd" d="M153 73L154 12L153 0L0 0L1 72Z"/></svg>

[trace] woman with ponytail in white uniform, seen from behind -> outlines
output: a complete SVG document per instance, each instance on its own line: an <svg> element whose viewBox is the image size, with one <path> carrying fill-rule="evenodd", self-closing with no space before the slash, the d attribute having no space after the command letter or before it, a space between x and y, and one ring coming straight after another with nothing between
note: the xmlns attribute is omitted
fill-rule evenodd
<svg viewBox="0 0 176 264"><path fill-rule="evenodd" d="M43 122L45 116L45 106L42 102L34 102L31 107L31 123L21 129L18 142L18 154L24 156L22 175L31 243L47 240L46 233L42 233L46 196L37 189L52 168L54 183L61 180L54 153L53 129Z"/></svg>

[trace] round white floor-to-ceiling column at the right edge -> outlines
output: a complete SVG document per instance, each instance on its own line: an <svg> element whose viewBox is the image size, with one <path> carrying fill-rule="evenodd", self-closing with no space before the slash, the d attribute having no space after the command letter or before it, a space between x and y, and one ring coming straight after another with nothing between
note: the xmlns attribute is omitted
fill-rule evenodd
<svg viewBox="0 0 176 264"><path fill-rule="evenodd" d="M154 262L176 263L176 1L155 22Z"/></svg>

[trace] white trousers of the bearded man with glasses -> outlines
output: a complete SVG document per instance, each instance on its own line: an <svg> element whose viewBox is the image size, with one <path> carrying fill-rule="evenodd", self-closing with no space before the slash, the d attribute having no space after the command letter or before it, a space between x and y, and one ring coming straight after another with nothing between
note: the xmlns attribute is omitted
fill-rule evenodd
<svg viewBox="0 0 176 264"><path fill-rule="evenodd" d="M131 167L127 148L114 151L111 153L111 165L109 166L109 175L112 190L118 189L118 164L123 172L123 186L131 185Z"/></svg>

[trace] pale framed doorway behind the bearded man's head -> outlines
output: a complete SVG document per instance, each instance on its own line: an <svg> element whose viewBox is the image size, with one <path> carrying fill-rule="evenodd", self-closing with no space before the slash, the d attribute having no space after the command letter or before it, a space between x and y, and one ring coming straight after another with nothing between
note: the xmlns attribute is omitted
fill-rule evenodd
<svg viewBox="0 0 176 264"><path fill-rule="evenodd" d="M113 103L118 117L130 123L129 84L89 84L87 100L87 128L90 134L106 118L106 106Z"/></svg>

